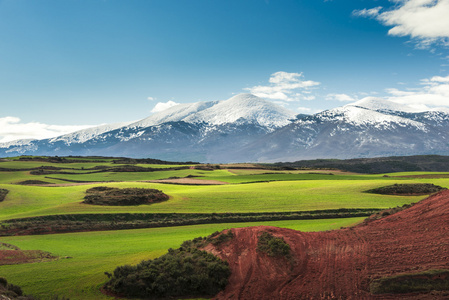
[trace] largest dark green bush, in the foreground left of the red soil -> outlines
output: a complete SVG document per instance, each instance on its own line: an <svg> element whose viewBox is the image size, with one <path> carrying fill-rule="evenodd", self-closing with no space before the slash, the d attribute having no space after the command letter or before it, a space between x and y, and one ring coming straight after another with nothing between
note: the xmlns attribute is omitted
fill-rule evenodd
<svg viewBox="0 0 449 300"><path fill-rule="evenodd" d="M196 248L199 238L136 266L117 267L105 288L117 295L141 298L214 296L231 274L227 262Z"/></svg>

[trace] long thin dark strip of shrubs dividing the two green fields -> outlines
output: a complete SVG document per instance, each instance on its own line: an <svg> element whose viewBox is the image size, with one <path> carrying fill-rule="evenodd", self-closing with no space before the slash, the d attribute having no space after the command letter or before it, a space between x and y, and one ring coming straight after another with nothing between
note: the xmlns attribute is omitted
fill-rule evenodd
<svg viewBox="0 0 449 300"><path fill-rule="evenodd" d="M0 236L119 230L197 224L368 217L380 209L337 209L273 213L121 213L39 216L2 221Z"/></svg>

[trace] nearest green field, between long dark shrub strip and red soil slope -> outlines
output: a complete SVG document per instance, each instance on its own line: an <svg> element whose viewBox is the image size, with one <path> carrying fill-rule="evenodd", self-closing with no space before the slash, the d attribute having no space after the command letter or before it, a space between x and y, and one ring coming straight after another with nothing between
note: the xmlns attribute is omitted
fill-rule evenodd
<svg viewBox="0 0 449 300"><path fill-rule="evenodd" d="M143 259L158 257L168 248L198 236L207 236L226 228L269 225L302 231L338 229L360 222L363 218L277 221L264 223L208 224L183 227L121 230L20 236L2 238L2 242L24 250L42 249L61 257L51 262L0 266L1 276L21 285L25 293L41 297L59 294L70 299L111 299L100 293L107 280L105 271L116 266L136 264Z"/></svg>

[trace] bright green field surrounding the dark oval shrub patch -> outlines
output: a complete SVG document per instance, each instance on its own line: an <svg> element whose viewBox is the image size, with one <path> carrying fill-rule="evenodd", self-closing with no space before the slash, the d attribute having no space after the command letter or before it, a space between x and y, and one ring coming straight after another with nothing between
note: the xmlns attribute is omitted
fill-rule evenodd
<svg viewBox="0 0 449 300"><path fill-rule="evenodd" d="M449 186L448 179L302 180L219 186L119 182L101 185L156 188L169 195L170 200L140 206L94 206L81 201L86 189L95 185L40 187L0 184L0 188L10 191L5 201L0 203L0 220L68 213L214 213L389 208L416 202L425 196L387 196L363 191L395 182L417 181Z"/></svg>

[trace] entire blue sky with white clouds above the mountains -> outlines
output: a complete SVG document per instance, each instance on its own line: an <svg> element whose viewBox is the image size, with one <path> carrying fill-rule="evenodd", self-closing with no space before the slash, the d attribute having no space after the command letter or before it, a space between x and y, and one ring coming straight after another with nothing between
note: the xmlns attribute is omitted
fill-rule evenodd
<svg viewBox="0 0 449 300"><path fill-rule="evenodd" d="M448 15L449 0L0 0L0 142L242 92L298 113L448 106Z"/></svg>

